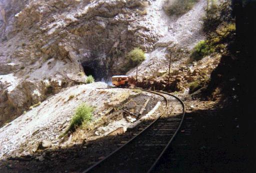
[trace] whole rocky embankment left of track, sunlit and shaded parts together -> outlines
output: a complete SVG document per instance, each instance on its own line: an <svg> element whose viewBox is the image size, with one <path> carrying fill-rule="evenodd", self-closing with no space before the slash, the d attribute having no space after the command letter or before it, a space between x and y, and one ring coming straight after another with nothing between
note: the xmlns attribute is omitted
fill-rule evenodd
<svg viewBox="0 0 256 173"><path fill-rule="evenodd" d="M102 87L106 84L99 82L64 90L1 128L0 171L84 171L131 139L143 129L141 126L149 124L165 110L164 99L158 95L140 90L96 89ZM60 95L62 99L59 100ZM120 112L121 107L125 107L126 111L138 116L148 99L138 118ZM171 100L172 113L179 113L180 105L175 106L178 102ZM96 107L88 129L76 129L73 134L59 139L73 114L67 109L73 110L82 102ZM117 108L108 112L109 107L104 103Z"/></svg>

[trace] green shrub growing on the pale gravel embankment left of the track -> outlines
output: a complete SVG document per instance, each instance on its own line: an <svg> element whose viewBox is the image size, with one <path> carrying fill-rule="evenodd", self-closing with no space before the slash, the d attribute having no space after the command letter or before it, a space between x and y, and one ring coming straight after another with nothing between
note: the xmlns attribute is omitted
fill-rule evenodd
<svg viewBox="0 0 256 173"><path fill-rule="evenodd" d="M60 137L63 137L68 132L74 132L76 128L90 122L93 110L93 107L85 103L80 104L75 110L74 116L70 121L70 125Z"/></svg>

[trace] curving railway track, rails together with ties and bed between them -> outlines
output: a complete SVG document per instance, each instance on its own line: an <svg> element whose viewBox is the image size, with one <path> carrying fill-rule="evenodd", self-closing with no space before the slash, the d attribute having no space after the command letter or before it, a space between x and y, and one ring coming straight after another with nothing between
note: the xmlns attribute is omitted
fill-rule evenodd
<svg viewBox="0 0 256 173"><path fill-rule="evenodd" d="M183 122L185 106L178 97L169 93L140 90L164 99L165 106L161 115L149 125L142 126L144 129L141 132L83 173L150 173L159 162ZM170 114L170 101L173 98L180 103L182 113L166 116Z"/></svg>

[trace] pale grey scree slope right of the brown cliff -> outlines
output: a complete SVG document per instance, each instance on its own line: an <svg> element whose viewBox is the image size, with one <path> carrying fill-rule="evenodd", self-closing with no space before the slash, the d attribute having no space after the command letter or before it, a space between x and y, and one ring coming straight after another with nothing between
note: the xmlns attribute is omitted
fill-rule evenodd
<svg viewBox="0 0 256 173"><path fill-rule="evenodd" d="M153 45L152 51L146 54L146 60L139 67L139 77L156 77L157 71L167 72L169 54L172 53L171 68L176 69L189 57L189 51L200 40L204 39L202 18L205 15L205 0L199 0L194 7L180 17L168 16L163 10L165 0L154 1L148 7L146 18L153 16L152 24L159 28L162 37ZM153 13L155 15L153 15ZM132 69L127 74L135 75Z"/></svg>

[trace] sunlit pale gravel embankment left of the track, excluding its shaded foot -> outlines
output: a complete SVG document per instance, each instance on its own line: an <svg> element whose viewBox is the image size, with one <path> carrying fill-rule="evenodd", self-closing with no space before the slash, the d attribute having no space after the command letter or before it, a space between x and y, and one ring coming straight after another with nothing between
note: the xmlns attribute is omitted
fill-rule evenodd
<svg viewBox="0 0 256 173"><path fill-rule="evenodd" d="M106 86L105 83L98 82L65 89L46 101L30 107L28 112L5 124L0 130L1 158L31 155L41 142L50 143L50 146L58 148L81 143L84 139L96 140L118 128L123 128L122 131L125 132L137 119L130 115L124 117L122 109L119 110L120 106L135 115L150 98L143 111L145 115L159 100L151 94L136 93L133 90L96 89ZM59 139L69 125L75 108L81 103L95 107L93 119L87 127L88 132L77 130L69 136L69 139ZM117 110L107 107L105 103L117 106Z"/></svg>

